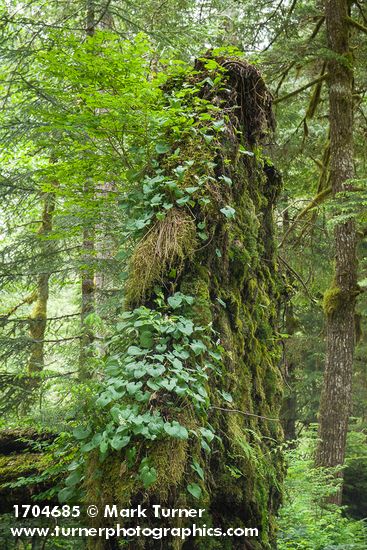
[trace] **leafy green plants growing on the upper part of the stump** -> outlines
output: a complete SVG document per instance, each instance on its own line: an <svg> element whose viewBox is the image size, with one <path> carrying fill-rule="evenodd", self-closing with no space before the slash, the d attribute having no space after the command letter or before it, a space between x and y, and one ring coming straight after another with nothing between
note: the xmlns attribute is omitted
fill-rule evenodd
<svg viewBox="0 0 367 550"><path fill-rule="evenodd" d="M205 63L209 62L205 60ZM214 70L216 74L215 82L209 86L219 90L225 78L223 74L218 75L216 67L215 63L214 68L208 69L208 74ZM184 77L183 86L172 89ZM122 209L129 214L127 237L138 237L152 223L164 220L175 207L193 209L196 203L209 202L207 186L214 175L213 153L218 145L218 133L224 130L224 120L216 120L220 116L219 108L201 97L208 82L198 80L196 71L180 66L165 78L165 103L161 104L160 111L156 105L156 111L150 113L158 132L155 140L154 136L150 136L150 140L155 144L156 153L164 157L151 160L149 174L144 174L143 179L139 172L130 174L133 179L136 177L135 189L129 190L121 201Z"/></svg>

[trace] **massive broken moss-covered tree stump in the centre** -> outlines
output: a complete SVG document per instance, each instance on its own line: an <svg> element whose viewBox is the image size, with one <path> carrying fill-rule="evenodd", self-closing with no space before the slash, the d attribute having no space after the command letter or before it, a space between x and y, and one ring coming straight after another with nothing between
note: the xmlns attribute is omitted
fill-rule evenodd
<svg viewBox="0 0 367 550"><path fill-rule="evenodd" d="M218 74L222 75L220 85L215 84ZM129 548L273 550L283 465L277 448L282 437L278 420L282 381L276 332L280 280L273 228L280 179L261 147L271 139L271 97L258 70L237 58L209 56L198 61L186 83L167 85L167 95L171 85L174 89L193 83L200 84L199 98L216 109L212 131L204 139L183 133L174 142L176 159L179 155L184 167L180 186L189 189L191 201L178 201L167 209L168 214L157 216L139 241L130 261L126 303L128 310L144 305L154 312L160 299L168 300L173 313L182 312L181 325L187 318L194 323L197 340L190 340L189 346L196 357L201 357L200 331L207 331L211 335L207 347L219 349L221 358L211 352L217 362L215 368L205 371L202 408L193 406L187 397L190 382L188 388L182 385L178 397L173 397L177 388L164 385L161 379L156 386L150 384L156 389L143 409L154 411L166 422L178 421L189 433L189 437L182 433L170 437L167 428L166 434L151 439L136 438L136 456L149 459L156 481L144 488L142 475L134 477L137 460L134 464L129 450L124 449L98 465L98 476L93 476L96 463L90 461L87 498L125 508L160 504L206 510L201 520L160 523L147 519L150 526L196 523L224 530L259 529L258 538L157 541L140 537L132 540ZM173 157L162 154L159 158L161 169L169 172ZM203 172L205 183L195 188ZM185 301L182 297L194 300L187 298L180 310L178 303ZM146 339L147 332L144 334ZM169 348L168 338L166 342ZM177 368L193 372L195 377L195 357L185 356L175 344L173 348L181 353L181 367ZM160 357L163 349L159 348ZM150 357L154 353L157 351L151 351ZM174 360L171 363L174 365ZM172 369L172 365L165 368ZM144 380L141 373L135 371L135 375ZM191 384L194 387L195 382ZM144 395L139 399L144 403ZM205 426L209 426L209 435ZM200 430L207 436L201 445L195 435ZM213 439L210 434L215 434ZM136 525L135 520L130 522Z"/></svg>

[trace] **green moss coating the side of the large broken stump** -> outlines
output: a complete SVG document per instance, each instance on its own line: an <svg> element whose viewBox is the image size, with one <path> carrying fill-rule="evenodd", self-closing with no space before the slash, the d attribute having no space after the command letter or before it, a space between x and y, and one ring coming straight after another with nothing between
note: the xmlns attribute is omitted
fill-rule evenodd
<svg viewBox="0 0 367 550"><path fill-rule="evenodd" d="M199 82L204 75L195 73L194 78ZM258 74L256 78L258 82ZM230 105L229 113L235 112L233 107ZM229 120L226 118L226 131L218 138L220 148L213 142L203 149L200 137L195 147L192 135L182 135L178 143L182 161L196 159L185 172L183 187L192 185L195 176L203 173L208 176L205 192L210 203L196 202L190 211L190 219L194 214L196 224L206 222L208 241L198 245L196 230L190 230L182 240L184 245L178 246L179 241L173 239L173 249L168 248L173 253L160 255L156 253L157 243L162 242L158 226L156 232L148 232L138 244L127 286L130 304L152 303L153 282L159 284L165 295L172 289L192 295L195 302L185 315L203 327L213 326L224 352L217 370L208 369L212 405L208 420L220 439L213 442L210 455L200 449L200 441L195 437L190 437L188 442L167 439L141 443L139 460L149 456L158 473L157 481L148 490L143 490L134 467L126 468L123 453L116 453L98 466L103 472L99 498L124 503L157 500L172 508L191 502L187 484L199 483L203 489L202 502L207 508L207 524L222 528L257 527L260 540L254 541L254 547L272 550L274 517L281 500L284 473L281 456L275 451L276 443L282 439L280 423L268 419L277 418L282 394L278 369L280 350L275 341L281 282L272 221L279 179L271 170L266 170L266 162L259 158L259 152L256 158L238 154L240 145L246 150L251 147L251 140L244 137L249 129L241 126L239 133L238 118L231 116ZM248 118L245 120L250 124ZM260 130L256 128L257 136L261 135ZM204 150L210 155L205 153L202 162L197 151L202 154ZM208 160L215 168L207 164ZM170 157L162 159L165 172L170 169L170 162L174 167L177 158L175 161ZM222 174L231 179L232 185L223 183ZM233 218L227 219L221 213L226 205L235 209ZM185 206L177 209L178 220L187 215ZM169 276L172 267L177 269L173 283ZM224 402L218 390L222 394L230 393L233 401ZM162 410L166 415L165 403ZM187 411L181 406L175 414L187 414L182 423L194 431L203 424L203 418L199 418L196 411ZM191 468L193 458L205 466L204 482L195 478ZM199 504L193 503L195 507ZM210 538L188 544L190 549L219 547L218 541ZM166 543L167 550L180 546L178 541ZM220 547L237 548L236 543L223 539Z"/></svg>

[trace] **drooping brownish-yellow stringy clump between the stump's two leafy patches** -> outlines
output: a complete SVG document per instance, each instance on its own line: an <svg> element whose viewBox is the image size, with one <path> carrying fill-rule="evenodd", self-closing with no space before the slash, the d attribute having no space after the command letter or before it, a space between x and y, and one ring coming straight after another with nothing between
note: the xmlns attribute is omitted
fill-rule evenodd
<svg viewBox="0 0 367 550"><path fill-rule="evenodd" d="M179 273L195 248L193 218L184 210L172 208L164 220L157 221L146 233L133 253L126 284L127 303L139 303L172 269Z"/></svg>

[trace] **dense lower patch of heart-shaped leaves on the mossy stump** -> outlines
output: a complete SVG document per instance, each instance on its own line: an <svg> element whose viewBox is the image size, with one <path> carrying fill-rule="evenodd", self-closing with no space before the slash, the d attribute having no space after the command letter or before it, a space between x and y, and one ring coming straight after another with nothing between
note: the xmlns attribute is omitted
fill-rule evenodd
<svg viewBox="0 0 367 550"><path fill-rule="evenodd" d="M72 487L82 480L83 463L97 451L100 461L127 446L127 456L142 440L186 440L194 437L209 452L214 433L207 422L210 406L208 377L218 372L220 346L212 344L210 326L197 326L184 312L194 298L181 292L168 302L158 294L154 307L141 306L121 315L109 343L104 379L95 395L98 414L73 430L79 448L78 469L60 492L62 501L75 496ZM164 416L160 409L164 403ZM192 408L202 425L180 422L182 408ZM135 466L132 460L130 466ZM157 479L149 456L139 466L144 487ZM194 470L204 473L197 462ZM197 490L192 489L197 494Z"/></svg>

